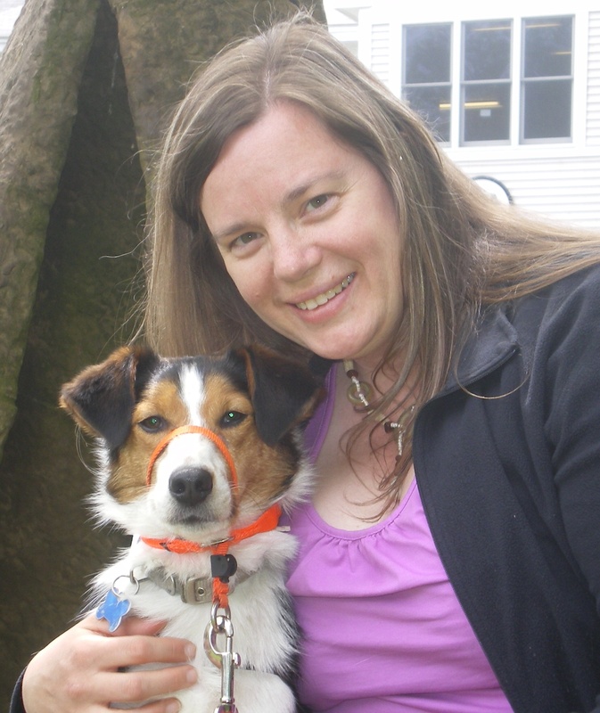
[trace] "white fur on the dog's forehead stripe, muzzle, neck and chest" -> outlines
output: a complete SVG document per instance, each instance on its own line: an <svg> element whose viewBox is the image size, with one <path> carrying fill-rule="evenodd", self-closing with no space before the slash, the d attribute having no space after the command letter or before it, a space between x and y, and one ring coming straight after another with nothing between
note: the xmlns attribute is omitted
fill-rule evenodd
<svg viewBox="0 0 600 713"><path fill-rule="evenodd" d="M184 376L182 391L190 420L203 425L201 375L188 370ZM300 444L300 436L297 435L296 440ZM208 438L198 434L177 436L157 461L152 487L127 504L117 502L107 493L105 483L110 466L105 454L101 455L100 462L103 472L93 499L98 520L116 522L127 532L142 532L145 537L183 537L204 544L227 534L222 524L232 512L227 467L218 448ZM184 523L174 532L173 515L177 508L168 493L168 477L182 465L210 469L214 473L214 484L206 505L202 505L206 522L194 526ZM302 458L300 469L280 502L285 510L307 496L311 481L312 471ZM296 710L292 691L273 673L282 669L287 674L292 672L296 632L286 606L285 573L295 551L294 538L279 529L251 537L230 549L238 563L238 572L251 575L238 586L235 586L237 576L234 576L234 591L229 596L234 652L241 657L241 668L234 672L235 705L240 713L293 713ZM161 635L193 641L198 649L193 663L199 681L192 689L178 693L177 698L182 703L183 713L213 713L219 705L221 674L204 652L211 604L184 603L178 595L168 594L144 579L148 571L159 568L182 581L191 577L209 578L210 553L168 553L135 539L118 561L95 578L93 600L99 603L114 586L130 600L132 613L168 620ZM132 583L131 575L139 580L139 586ZM119 704L115 705L119 707Z"/></svg>

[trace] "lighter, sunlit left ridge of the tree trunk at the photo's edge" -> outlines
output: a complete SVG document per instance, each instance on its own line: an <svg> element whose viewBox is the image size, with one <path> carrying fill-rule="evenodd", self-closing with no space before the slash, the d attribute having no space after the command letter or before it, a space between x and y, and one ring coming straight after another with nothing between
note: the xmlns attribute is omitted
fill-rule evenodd
<svg viewBox="0 0 600 713"><path fill-rule="evenodd" d="M16 410L45 229L97 5L29 2L0 62L0 448ZM70 41L59 43L60 37Z"/></svg>

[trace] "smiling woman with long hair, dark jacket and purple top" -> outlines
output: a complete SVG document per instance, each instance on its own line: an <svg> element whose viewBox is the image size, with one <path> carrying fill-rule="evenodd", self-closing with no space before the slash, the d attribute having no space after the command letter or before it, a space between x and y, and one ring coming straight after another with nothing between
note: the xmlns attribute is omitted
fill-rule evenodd
<svg viewBox="0 0 600 713"><path fill-rule="evenodd" d="M600 238L482 194L302 14L197 78L156 188L152 346L258 340L326 371L290 520L302 701L600 711ZM177 709L192 652L122 628L38 654L28 713ZM117 673L140 661L179 665Z"/></svg>

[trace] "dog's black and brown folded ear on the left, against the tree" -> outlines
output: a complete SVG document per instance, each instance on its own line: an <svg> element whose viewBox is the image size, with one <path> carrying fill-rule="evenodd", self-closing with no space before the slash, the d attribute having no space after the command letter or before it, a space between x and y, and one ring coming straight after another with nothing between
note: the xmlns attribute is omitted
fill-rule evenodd
<svg viewBox="0 0 600 713"><path fill-rule="evenodd" d="M84 430L117 448L127 438L136 398L158 362L150 349L119 348L65 384L59 403Z"/></svg>

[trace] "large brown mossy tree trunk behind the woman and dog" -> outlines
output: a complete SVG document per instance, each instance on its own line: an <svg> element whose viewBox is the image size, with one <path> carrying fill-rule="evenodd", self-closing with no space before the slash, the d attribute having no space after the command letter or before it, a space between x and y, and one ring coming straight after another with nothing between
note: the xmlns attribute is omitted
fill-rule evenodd
<svg viewBox="0 0 600 713"><path fill-rule="evenodd" d="M148 157L198 63L294 10L290 0L27 0L4 50L0 707L122 544L87 521L91 478L56 401L62 382L134 332Z"/></svg>

